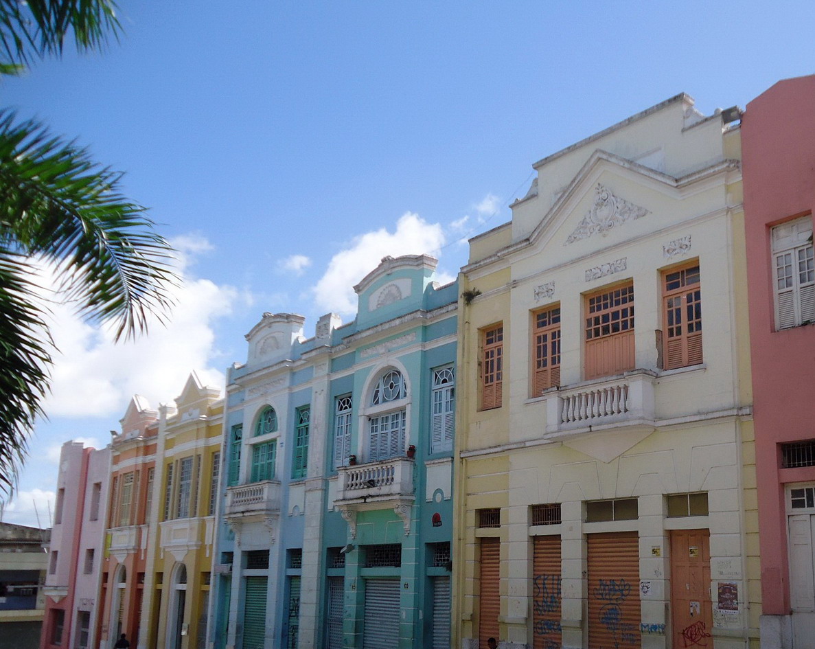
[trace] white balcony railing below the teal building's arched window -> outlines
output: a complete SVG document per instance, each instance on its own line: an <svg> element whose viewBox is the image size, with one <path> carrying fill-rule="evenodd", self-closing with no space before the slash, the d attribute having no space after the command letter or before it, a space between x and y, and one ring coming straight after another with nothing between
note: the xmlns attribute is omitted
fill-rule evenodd
<svg viewBox="0 0 815 649"><path fill-rule="evenodd" d="M413 467L407 457L342 466L337 471L337 505L343 501L388 501L413 497Z"/></svg>

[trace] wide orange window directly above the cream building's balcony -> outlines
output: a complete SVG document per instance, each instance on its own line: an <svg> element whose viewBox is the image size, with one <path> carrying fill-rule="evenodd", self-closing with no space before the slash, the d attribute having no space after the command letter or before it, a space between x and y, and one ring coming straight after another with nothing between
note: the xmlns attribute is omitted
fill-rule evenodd
<svg viewBox="0 0 815 649"><path fill-rule="evenodd" d="M588 294L585 307L585 378L634 369L634 283Z"/></svg>

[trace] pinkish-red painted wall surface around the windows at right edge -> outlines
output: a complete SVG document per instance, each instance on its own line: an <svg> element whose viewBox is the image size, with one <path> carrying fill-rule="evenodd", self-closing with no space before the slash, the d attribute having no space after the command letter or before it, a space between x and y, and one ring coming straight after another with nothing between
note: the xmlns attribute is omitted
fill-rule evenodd
<svg viewBox="0 0 815 649"><path fill-rule="evenodd" d="M815 75L786 79L742 117L753 412L765 615L790 612L784 484L815 467L781 469L783 442L815 438L815 325L774 331L770 227L815 211Z"/></svg>

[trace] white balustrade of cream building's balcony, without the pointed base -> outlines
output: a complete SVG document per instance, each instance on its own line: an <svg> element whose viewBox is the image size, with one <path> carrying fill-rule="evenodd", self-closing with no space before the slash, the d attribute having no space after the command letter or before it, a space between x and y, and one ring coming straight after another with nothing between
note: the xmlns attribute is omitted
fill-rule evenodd
<svg viewBox="0 0 815 649"><path fill-rule="evenodd" d="M546 432L605 430L654 422L654 373L633 370L549 391Z"/></svg>

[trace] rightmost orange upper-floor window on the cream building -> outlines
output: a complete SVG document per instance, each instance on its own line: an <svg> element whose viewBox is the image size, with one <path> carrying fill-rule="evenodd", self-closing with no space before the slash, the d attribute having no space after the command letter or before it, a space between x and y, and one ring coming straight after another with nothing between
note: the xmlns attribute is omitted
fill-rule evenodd
<svg viewBox="0 0 815 649"><path fill-rule="evenodd" d="M698 261L663 271L663 368L702 362L702 276Z"/></svg>

